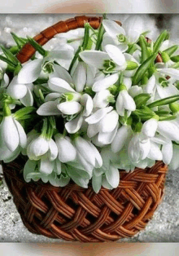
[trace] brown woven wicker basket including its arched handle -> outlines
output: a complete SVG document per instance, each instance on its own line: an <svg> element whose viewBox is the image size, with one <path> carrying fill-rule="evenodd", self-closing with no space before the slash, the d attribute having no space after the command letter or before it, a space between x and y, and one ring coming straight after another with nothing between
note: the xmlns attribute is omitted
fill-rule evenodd
<svg viewBox="0 0 179 256"><path fill-rule="evenodd" d="M101 18L78 16L60 21L34 39L44 45L57 33L84 27L86 21L98 29ZM34 52L27 43L17 58L24 63ZM136 168L128 174L120 171L118 188L101 188L96 194L91 183L89 188L72 181L63 188L40 181L26 183L21 158L2 163L2 167L16 208L30 232L82 242L116 241L144 229L163 199L168 169L162 161L156 161L155 166L145 170Z"/></svg>

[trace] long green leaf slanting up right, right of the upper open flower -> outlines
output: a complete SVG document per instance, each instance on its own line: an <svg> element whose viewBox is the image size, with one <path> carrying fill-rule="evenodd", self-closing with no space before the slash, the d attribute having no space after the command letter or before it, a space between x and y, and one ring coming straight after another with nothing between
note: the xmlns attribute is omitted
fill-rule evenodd
<svg viewBox="0 0 179 256"><path fill-rule="evenodd" d="M138 85L138 82L142 79L143 75L146 73L146 70L151 66L156 58L156 54L151 55L148 59L142 63L142 65L138 68L137 72L133 76L133 86Z"/></svg>

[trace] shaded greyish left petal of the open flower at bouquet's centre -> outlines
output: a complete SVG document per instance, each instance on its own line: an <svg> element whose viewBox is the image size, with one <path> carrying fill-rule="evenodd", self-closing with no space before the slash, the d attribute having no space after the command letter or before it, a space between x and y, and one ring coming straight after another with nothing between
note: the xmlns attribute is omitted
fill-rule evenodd
<svg viewBox="0 0 179 256"><path fill-rule="evenodd" d="M56 101L48 101L44 104L42 104L38 109L37 109L37 114L39 116L54 116L54 115L59 115L59 109L57 108L57 102Z"/></svg>

